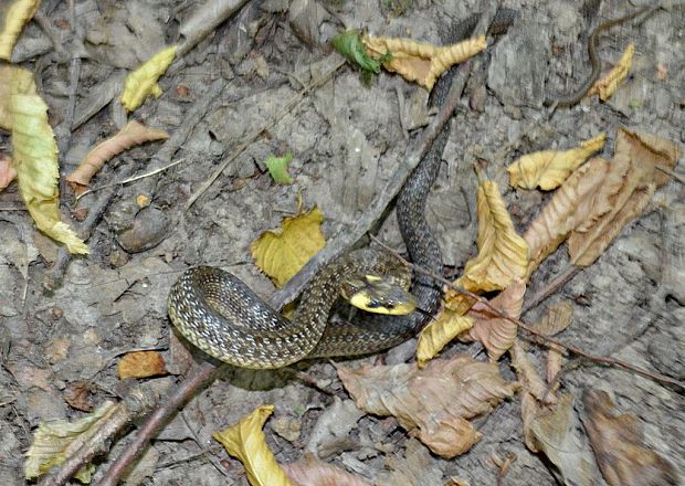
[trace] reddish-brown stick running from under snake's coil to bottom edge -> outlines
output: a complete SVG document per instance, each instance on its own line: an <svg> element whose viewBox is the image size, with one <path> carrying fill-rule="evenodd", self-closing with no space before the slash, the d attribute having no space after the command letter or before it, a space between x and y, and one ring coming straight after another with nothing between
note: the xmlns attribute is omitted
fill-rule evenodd
<svg viewBox="0 0 685 486"><path fill-rule="evenodd" d="M203 361L192 368L188 376L169 395L161 402L161 406L147 418L138 430L136 437L128 444L105 473L99 486L116 486L126 472L127 467L136 461L147 448L150 440L157 435L161 427L173 416L199 389L214 380L215 372L223 366L217 366L210 361Z"/></svg>

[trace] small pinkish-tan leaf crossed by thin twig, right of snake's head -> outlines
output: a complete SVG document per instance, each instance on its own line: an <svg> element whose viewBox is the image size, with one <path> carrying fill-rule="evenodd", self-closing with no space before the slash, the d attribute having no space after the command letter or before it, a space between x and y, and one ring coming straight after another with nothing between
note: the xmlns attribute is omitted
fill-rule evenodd
<svg viewBox="0 0 685 486"><path fill-rule="evenodd" d="M491 304L506 313L509 317L518 319L524 305L525 294L526 284L517 279L493 298ZM487 349L487 356L493 361L497 361L514 345L516 332L518 331L516 324L498 317L479 302L471 308L467 316L474 318L475 321L473 327L461 339L483 342L483 346Z"/></svg>

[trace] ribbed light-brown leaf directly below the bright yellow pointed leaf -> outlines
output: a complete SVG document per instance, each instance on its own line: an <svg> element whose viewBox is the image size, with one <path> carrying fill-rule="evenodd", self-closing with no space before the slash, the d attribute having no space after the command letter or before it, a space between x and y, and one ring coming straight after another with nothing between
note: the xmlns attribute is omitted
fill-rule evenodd
<svg viewBox="0 0 685 486"><path fill-rule="evenodd" d="M530 223L524 234L524 240L530 246L528 276L586 220L593 209L594 196L604 183L608 171L607 160L589 160L555 191L547 205Z"/></svg>

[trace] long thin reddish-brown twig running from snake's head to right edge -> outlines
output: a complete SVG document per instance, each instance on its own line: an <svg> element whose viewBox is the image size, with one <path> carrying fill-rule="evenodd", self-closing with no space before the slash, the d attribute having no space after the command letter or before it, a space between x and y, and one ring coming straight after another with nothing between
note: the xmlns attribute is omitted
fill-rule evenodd
<svg viewBox="0 0 685 486"><path fill-rule="evenodd" d="M631 363L629 363L626 361L622 361L620 359L610 358L610 357L607 357L607 356L591 355L589 352L583 351L580 348L577 348L577 347L571 346L571 345L567 345L567 344L561 342L561 341L559 341L557 339L550 338L549 336L545 336L545 335L540 334L538 330L536 330L533 327L528 326L527 324L523 323L520 319L516 319L515 317L510 317L506 313L503 313L502 310L499 310L498 308L493 306L486 298L481 297L479 295L476 295L473 292L468 292L465 288L460 287L459 285L454 285L452 282L447 281L442 275L438 275L438 274L435 274L433 272L426 271L424 268L421 268L421 267L419 267L419 266L408 262L397 251L394 251L393 249L391 249L390 246L388 246L387 244L384 244L383 242L378 240L376 236L373 236L373 235L369 235L369 236L371 237L371 240L373 240L380 246L386 249L390 254L392 254L396 258L398 258L400 262L402 262L409 268L413 270L414 272L418 272L418 273L421 273L423 275L426 275L426 276L433 278L435 282L440 282L441 284L446 285L450 288L455 289L460 294L466 295L466 296L468 296L468 297L479 302L485 307L487 307L489 310L492 310L495 315L497 315L497 317L500 317L503 319L507 319L509 323L513 323L513 324L519 326L521 329L526 330L527 332L534 335L536 337L536 341L538 344L541 344L541 345L545 345L545 346L556 345L556 346L562 348L563 350L568 351L568 352L571 352L571 353L578 355L578 356L582 356L583 358L587 358L587 359L589 359L591 361L601 362L601 363L604 363L604 364L610 364L610 366L615 366L615 367L624 368L626 370L633 371L633 372L635 372L637 374L641 374L643 377L651 378L652 380L655 380L655 381L658 381L658 382L662 382L662 383L667 383L667 384L671 384L673 387L676 387L676 388L679 388L682 390L685 390L685 383L683 383L681 381L677 381L677 380L674 380L672 378L668 378L666 376L663 376L661 373L652 372L652 371L649 371L649 370L635 367L635 366L633 366L633 364L631 364Z"/></svg>

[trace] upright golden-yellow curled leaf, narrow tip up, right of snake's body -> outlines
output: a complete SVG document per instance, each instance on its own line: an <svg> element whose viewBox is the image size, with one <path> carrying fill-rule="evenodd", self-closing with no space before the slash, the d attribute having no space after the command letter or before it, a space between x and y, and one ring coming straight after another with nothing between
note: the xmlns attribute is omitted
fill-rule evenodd
<svg viewBox="0 0 685 486"><path fill-rule="evenodd" d="M455 285L474 293L500 290L526 275L528 244L516 234L495 182L481 182L477 204L478 255L466 263ZM462 304L464 298L460 295L449 290L445 295L447 307L454 309L454 303Z"/></svg>

